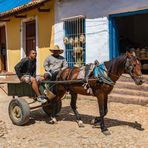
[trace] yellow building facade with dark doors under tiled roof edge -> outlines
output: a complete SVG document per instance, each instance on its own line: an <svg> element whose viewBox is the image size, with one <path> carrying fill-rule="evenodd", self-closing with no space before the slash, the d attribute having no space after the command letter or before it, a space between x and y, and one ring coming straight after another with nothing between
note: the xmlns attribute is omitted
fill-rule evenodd
<svg viewBox="0 0 148 148"><path fill-rule="evenodd" d="M54 44L54 1L38 0L0 14L0 69L14 66L30 49L37 51L37 73Z"/></svg>

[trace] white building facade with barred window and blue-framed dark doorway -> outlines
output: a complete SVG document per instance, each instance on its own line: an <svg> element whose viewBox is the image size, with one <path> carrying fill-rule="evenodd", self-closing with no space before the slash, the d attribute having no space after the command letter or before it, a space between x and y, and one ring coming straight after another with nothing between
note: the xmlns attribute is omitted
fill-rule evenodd
<svg viewBox="0 0 148 148"><path fill-rule="evenodd" d="M147 0L56 0L55 43L63 46L70 63L77 63L75 54L69 57L69 52L75 53L76 49L79 52L82 46L77 45L77 40L81 42L81 34L85 36L84 63L112 59L132 46L141 59L143 70L147 71L147 17ZM75 35L72 37L72 34Z"/></svg>

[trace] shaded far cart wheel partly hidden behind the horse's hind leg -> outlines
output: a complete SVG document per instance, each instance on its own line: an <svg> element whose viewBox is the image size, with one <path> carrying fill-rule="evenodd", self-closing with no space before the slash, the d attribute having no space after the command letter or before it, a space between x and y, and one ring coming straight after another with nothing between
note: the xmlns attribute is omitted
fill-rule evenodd
<svg viewBox="0 0 148 148"><path fill-rule="evenodd" d="M48 115L51 116L51 113L53 111L53 103L54 102L49 102L48 105L42 106L43 111ZM58 100L55 103L55 114L59 113L62 107L62 101Z"/></svg>

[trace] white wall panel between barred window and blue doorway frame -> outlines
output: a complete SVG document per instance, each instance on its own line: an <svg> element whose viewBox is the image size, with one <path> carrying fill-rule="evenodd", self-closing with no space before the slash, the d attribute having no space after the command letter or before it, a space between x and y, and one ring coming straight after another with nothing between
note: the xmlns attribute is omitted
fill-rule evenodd
<svg viewBox="0 0 148 148"><path fill-rule="evenodd" d="M86 63L109 60L108 18L86 19Z"/></svg>

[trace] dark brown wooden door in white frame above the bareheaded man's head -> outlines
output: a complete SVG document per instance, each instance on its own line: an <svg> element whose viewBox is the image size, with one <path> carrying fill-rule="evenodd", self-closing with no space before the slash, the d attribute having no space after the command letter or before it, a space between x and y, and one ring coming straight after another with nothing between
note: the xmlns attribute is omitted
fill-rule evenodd
<svg viewBox="0 0 148 148"><path fill-rule="evenodd" d="M35 20L26 23L26 55L36 49L36 24Z"/></svg>

